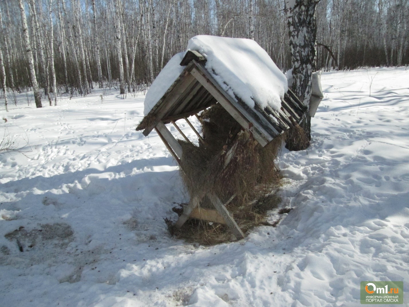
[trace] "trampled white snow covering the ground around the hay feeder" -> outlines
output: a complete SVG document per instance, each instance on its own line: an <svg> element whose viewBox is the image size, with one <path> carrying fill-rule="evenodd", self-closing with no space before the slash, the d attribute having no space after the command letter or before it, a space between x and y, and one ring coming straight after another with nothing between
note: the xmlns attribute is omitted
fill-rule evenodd
<svg viewBox="0 0 409 307"><path fill-rule="evenodd" d="M21 95L0 111L32 159L0 154L0 305L349 307L373 280L403 281L408 304L409 71L322 84L311 147L279 158L293 210L211 247L166 230L187 197L159 137L134 130L142 94L95 90L42 109Z"/></svg>

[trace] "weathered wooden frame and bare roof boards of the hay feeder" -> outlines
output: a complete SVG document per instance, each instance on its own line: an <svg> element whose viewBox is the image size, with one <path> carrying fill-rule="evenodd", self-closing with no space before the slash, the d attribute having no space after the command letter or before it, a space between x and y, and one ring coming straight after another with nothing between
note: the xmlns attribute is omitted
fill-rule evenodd
<svg viewBox="0 0 409 307"><path fill-rule="evenodd" d="M186 67L136 129L143 130L142 133L145 136L155 129L179 166L183 150L165 124L172 123L182 137L190 142L176 124L178 120L184 119L196 133L199 140L203 141L202 136L189 122L188 117L191 115L198 117L197 114L200 111L219 103L240 124L246 134L252 135L258 144L265 147L276 136L281 135L298 123L307 111L306 106L299 101L291 90L285 93L279 111L272 109L270 106L262 109L257 102L255 102L254 108L250 108L238 97L231 97L229 93L223 90L205 68L205 63L206 58L202 54L196 51L188 51L180 63L181 66ZM226 151L227 158L233 156L234 144ZM230 159L226 159L225 166L229 161ZM175 226L182 227L189 217L225 223L237 239L242 239L244 237L242 230L226 209L226 205L234 199L235 195L232 195L224 204L215 194L209 192L206 196L216 210L207 208L198 210L198 205L202 199L193 197L189 201L189 205L184 207L183 213Z"/></svg>

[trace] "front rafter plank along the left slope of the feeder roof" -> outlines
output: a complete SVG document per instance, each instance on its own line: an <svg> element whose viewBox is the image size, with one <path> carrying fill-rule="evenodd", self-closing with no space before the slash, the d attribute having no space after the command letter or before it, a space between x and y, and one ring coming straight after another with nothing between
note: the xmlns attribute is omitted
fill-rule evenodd
<svg viewBox="0 0 409 307"><path fill-rule="evenodd" d="M156 124L162 120L163 117L173 108L173 106L178 102L183 93L189 89L192 83L196 80L192 78L191 74L187 74L180 82L173 88L173 90L168 94L168 96L162 102L162 106L155 113L155 120L142 132L143 135L147 136L151 133L152 129L155 128Z"/></svg>

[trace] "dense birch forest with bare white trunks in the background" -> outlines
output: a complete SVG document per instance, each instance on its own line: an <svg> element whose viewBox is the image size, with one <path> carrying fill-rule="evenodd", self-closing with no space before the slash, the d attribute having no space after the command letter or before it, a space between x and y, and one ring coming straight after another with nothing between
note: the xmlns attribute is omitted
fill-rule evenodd
<svg viewBox="0 0 409 307"><path fill-rule="evenodd" d="M315 18L317 69L409 63L407 0L321 0ZM254 39L291 65L284 0L0 0L0 27L4 94L33 89L38 107L134 92L198 34Z"/></svg>

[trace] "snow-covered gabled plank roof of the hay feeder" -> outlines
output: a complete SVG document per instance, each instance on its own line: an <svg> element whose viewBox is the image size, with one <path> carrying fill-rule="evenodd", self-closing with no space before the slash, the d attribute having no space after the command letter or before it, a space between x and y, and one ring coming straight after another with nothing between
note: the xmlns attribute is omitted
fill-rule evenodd
<svg viewBox="0 0 409 307"><path fill-rule="evenodd" d="M298 122L306 107L255 41L199 35L172 57L145 98L137 130L188 117L219 102L262 146Z"/></svg>

